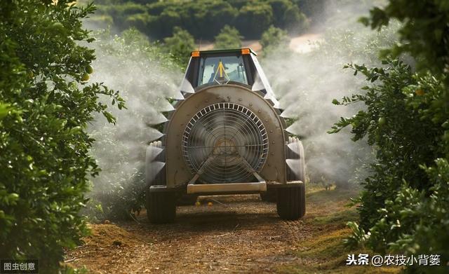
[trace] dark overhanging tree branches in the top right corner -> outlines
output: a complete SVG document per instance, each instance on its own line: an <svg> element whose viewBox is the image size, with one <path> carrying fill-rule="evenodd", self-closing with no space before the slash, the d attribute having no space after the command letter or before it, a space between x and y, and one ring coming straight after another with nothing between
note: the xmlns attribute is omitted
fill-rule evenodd
<svg viewBox="0 0 449 274"><path fill-rule="evenodd" d="M399 31L401 43L384 51L410 53L417 60L418 68L438 74L449 69L449 2L445 0L389 1L382 8L373 8L369 18L361 22L373 29L388 25L390 20L403 22Z"/></svg>

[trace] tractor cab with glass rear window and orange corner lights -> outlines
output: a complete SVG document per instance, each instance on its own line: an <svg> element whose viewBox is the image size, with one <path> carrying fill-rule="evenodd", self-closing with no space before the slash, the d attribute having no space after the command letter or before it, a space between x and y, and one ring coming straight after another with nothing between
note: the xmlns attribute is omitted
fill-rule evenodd
<svg viewBox="0 0 449 274"><path fill-rule="evenodd" d="M192 86L194 90L206 85L245 85L260 91L276 104L272 88L256 56L250 48L192 51L185 81L188 81L190 85L187 86ZM181 91L186 91L182 90L182 87Z"/></svg>

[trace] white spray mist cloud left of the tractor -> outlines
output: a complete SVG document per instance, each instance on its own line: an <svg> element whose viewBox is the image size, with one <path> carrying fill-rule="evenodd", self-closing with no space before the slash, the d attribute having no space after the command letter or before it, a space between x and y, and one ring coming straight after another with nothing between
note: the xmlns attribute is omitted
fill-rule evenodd
<svg viewBox="0 0 449 274"><path fill-rule="evenodd" d="M91 153L102 169L93 178L90 197L102 205L104 214L98 217L121 218L140 208L145 195L145 151L149 142L162 136L161 123L167 121L163 112L173 110L167 98L182 98L177 88L182 72L139 32L128 30L121 36L102 32L95 37L92 81L119 90L127 109L109 106L116 125L98 116L89 128L96 140ZM157 151L152 152L156 157Z"/></svg>

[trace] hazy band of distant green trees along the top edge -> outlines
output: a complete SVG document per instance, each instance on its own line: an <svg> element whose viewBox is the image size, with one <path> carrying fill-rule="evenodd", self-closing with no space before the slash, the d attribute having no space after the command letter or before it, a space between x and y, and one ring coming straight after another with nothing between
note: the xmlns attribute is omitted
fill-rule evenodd
<svg viewBox="0 0 449 274"><path fill-rule="evenodd" d="M144 3L145 2L145 3ZM95 22L110 22L119 30L136 27L151 39L163 39L182 27L196 39L213 39L229 25L247 39L259 39L270 25L299 33L308 20L292 0L118 1L100 0ZM310 4L309 4L310 5Z"/></svg>

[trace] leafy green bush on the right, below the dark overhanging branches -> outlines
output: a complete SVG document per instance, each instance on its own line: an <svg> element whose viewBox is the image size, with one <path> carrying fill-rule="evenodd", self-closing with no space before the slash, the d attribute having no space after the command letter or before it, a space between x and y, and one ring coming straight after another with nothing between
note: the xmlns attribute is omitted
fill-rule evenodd
<svg viewBox="0 0 449 274"><path fill-rule="evenodd" d="M334 100L366 104L351 118L341 118L331 132L350 126L353 140L368 139L376 158L356 200L360 228L351 224L348 242L382 253L440 254L444 266L449 261L443 244L449 231L449 122L446 116L441 123L441 97L447 88L441 79L413 73L398 60L384 65L349 65L372 84L342 102Z"/></svg>

